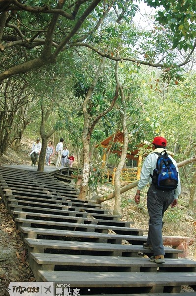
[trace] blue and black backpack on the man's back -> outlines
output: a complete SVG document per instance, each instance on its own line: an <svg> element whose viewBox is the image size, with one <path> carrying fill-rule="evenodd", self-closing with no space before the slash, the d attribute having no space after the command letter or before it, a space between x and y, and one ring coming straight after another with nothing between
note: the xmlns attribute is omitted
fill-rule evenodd
<svg viewBox="0 0 196 296"><path fill-rule="evenodd" d="M164 152L164 154L162 154ZM178 185L178 172L166 150L161 153L155 152L157 158L156 168L153 171L152 183L162 191L175 190Z"/></svg>

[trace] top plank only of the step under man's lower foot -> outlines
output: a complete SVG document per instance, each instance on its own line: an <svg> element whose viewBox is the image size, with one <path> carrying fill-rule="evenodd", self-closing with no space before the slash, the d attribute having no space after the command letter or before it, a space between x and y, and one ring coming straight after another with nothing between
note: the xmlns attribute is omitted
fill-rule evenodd
<svg viewBox="0 0 196 296"><path fill-rule="evenodd" d="M149 258L141 257L120 257L120 256L90 256L90 255L70 255L70 254L49 254L49 253L34 253L30 254L31 258L40 265L58 265L58 266L104 266L104 267L137 267L140 271L150 272L148 268L154 268L161 272L167 269L167 272L175 268L175 272L188 272L186 269L192 272L196 271L196 261L189 259L171 259L166 258L165 264L155 264L149 260ZM144 270L145 268L145 270ZM183 270L184 268L184 270ZM169 270L170 269L170 270ZM57 270L57 267L56 267ZM69 269L70 270L70 269ZM130 270L132 271L132 270ZM136 271L136 270L133 270Z"/></svg>

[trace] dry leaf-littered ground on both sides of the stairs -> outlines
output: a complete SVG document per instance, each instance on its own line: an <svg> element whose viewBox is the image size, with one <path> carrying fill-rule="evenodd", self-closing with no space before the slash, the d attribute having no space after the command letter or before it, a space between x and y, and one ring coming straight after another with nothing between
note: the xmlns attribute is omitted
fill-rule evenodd
<svg viewBox="0 0 196 296"><path fill-rule="evenodd" d="M8 149L7 153L0 159L0 165L31 164L29 152L32 143L27 139L23 141L18 153ZM123 184L126 185L126 184ZM113 191L110 184L98 188L99 195ZM147 190L147 189L146 189ZM122 195L122 218L124 221L132 221L131 227L148 229L148 212L146 207L146 190L140 198L140 205L134 203L136 188ZM189 192L182 188L179 204L176 208L168 209L164 215L163 235L196 237L196 209L188 208ZM104 202L104 208L113 209L114 200ZM147 235L147 232L144 233ZM196 243L189 246L189 259L196 261ZM3 289L10 282L35 281L34 275L28 264L28 252L23 243L16 223L9 214L3 200L0 197L0 296L7 296ZM189 287L182 287L182 292L193 292Z"/></svg>

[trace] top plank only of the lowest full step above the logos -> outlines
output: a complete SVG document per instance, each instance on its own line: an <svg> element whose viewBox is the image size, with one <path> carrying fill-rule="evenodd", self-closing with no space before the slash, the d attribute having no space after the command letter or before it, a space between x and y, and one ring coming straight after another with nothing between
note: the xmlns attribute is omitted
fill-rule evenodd
<svg viewBox="0 0 196 296"><path fill-rule="evenodd" d="M196 272L73 272L38 271L40 278L48 282L66 282L76 287L156 287L194 286Z"/></svg>

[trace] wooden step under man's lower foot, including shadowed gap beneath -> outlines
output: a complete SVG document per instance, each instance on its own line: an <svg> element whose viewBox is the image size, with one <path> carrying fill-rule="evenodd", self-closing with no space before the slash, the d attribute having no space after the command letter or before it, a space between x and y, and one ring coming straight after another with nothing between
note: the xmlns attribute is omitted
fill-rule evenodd
<svg viewBox="0 0 196 296"><path fill-rule="evenodd" d="M196 262L188 259L166 258L165 264L156 264L149 258L120 256L92 256L31 253L30 266L38 270L112 271L112 272L196 272ZM77 268L76 268L77 267Z"/></svg>

